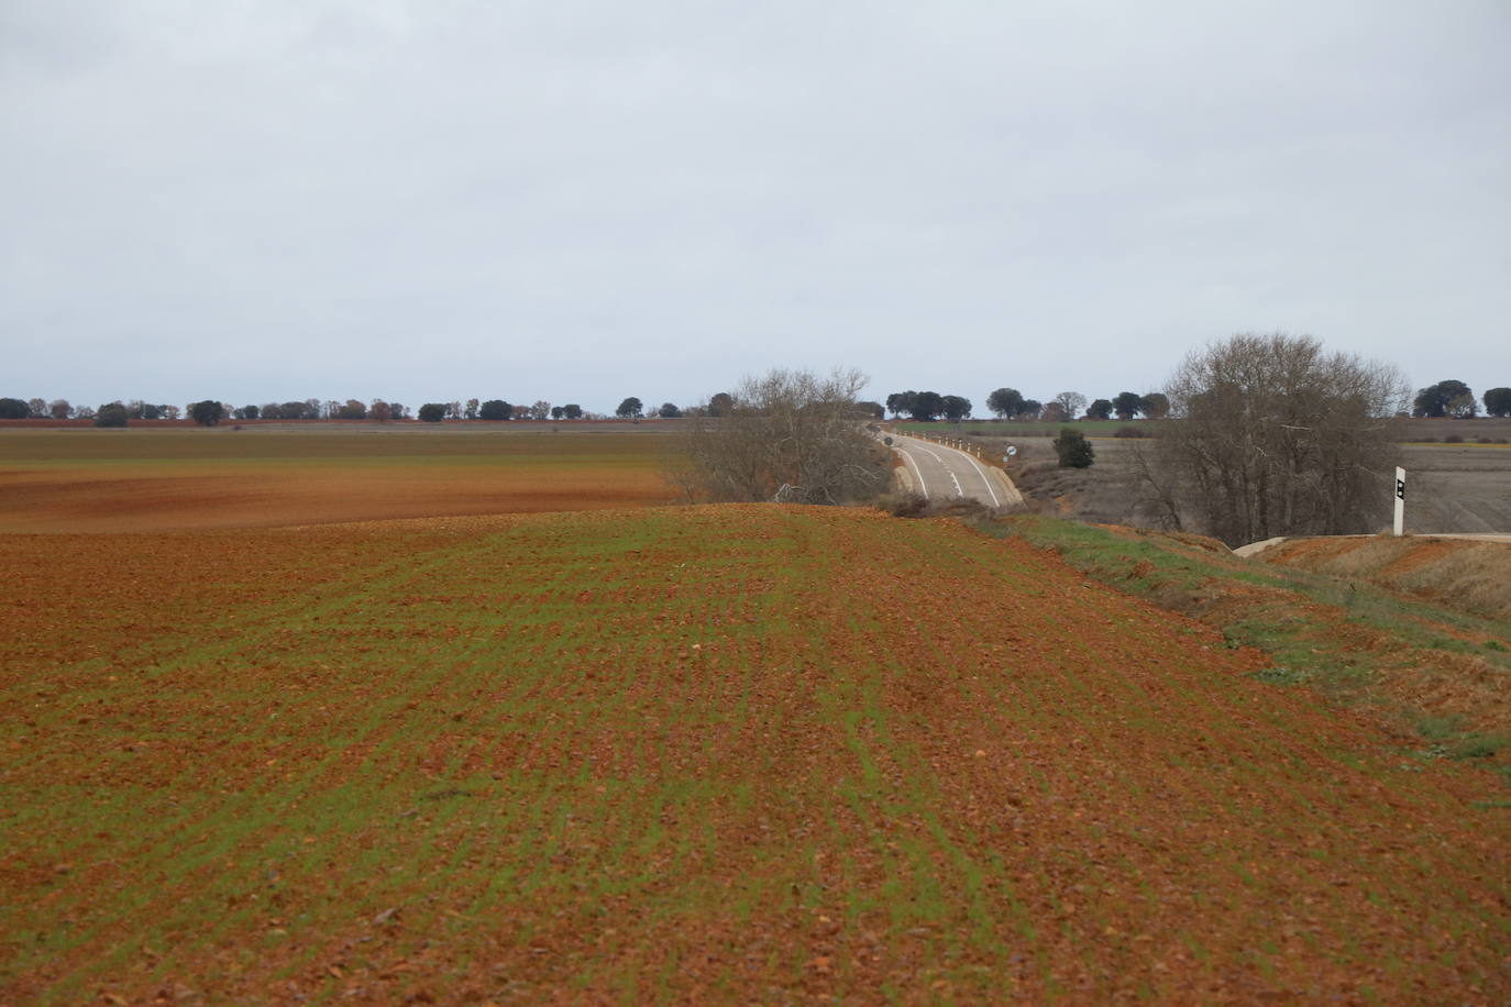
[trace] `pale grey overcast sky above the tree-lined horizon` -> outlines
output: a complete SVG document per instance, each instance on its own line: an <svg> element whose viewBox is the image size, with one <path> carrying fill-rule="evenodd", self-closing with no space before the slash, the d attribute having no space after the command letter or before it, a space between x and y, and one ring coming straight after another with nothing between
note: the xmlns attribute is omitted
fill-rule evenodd
<svg viewBox="0 0 1511 1007"><path fill-rule="evenodd" d="M1511 385L1506 0L0 0L0 396Z"/></svg>

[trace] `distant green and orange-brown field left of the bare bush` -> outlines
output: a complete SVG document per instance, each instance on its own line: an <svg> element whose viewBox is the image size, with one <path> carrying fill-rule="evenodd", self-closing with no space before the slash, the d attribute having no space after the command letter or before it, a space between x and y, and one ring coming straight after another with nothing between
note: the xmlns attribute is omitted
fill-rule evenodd
<svg viewBox="0 0 1511 1007"><path fill-rule="evenodd" d="M0 429L0 531L665 504L666 435L573 424Z"/></svg>

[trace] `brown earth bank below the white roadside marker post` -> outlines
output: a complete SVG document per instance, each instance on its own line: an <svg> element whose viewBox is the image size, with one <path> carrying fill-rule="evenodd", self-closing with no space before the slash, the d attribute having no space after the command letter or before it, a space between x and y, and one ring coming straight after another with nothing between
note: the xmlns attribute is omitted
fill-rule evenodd
<svg viewBox="0 0 1511 1007"><path fill-rule="evenodd" d="M1290 539L1257 559L1367 580L1451 608L1511 619L1511 542L1435 536Z"/></svg>

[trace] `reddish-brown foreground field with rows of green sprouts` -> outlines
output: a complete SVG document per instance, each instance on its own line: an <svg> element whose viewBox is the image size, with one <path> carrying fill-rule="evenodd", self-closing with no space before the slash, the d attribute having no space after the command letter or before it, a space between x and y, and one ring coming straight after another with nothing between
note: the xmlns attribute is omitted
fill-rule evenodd
<svg viewBox="0 0 1511 1007"><path fill-rule="evenodd" d="M1511 998L1493 778L1020 540L730 506L0 556L0 1001Z"/></svg>

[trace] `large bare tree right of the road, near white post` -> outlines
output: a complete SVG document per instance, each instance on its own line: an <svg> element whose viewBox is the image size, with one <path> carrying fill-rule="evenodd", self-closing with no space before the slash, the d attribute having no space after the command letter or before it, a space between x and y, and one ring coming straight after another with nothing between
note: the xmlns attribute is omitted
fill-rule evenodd
<svg viewBox="0 0 1511 1007"><path fill-rule="evenodd" d="M1154 450L1156 497L1230 545L1369 531L1396 463L1392 420L1410 388L1387 364L1312 337L1234 335L1171 377L1174 423Z"/></svg>

